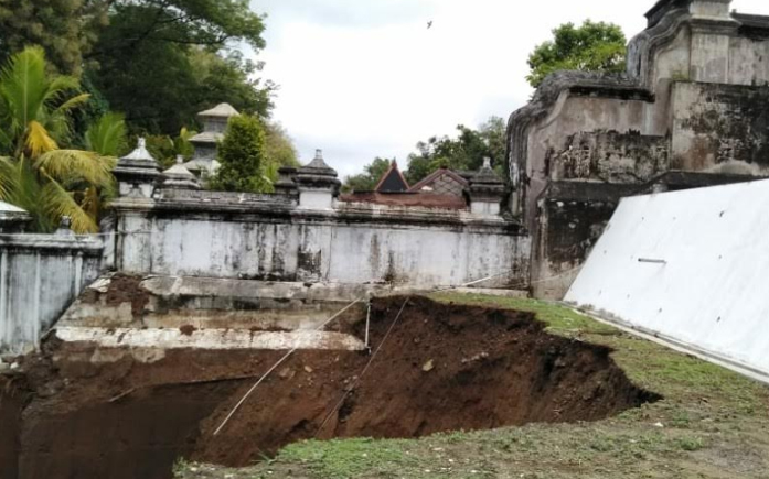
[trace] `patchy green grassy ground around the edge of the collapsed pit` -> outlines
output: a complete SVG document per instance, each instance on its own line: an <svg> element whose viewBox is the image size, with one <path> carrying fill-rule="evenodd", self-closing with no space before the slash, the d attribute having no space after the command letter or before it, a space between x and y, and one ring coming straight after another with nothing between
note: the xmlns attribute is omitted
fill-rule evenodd
<svg viewBox="0 0 769 479"><path fill-rule="evenodd" d="M769 389L547 303L440 294L537 313L553 334L610 346L638 385L665 399L598 423L533 424L415 440L305 442L244 469L182 464L192 478L765 478Z"/></svg>

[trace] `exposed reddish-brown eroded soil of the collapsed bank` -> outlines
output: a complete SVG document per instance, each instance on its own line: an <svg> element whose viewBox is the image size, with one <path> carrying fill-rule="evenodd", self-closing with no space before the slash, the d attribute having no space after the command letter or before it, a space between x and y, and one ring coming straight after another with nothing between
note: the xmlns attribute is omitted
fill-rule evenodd
<svg viewBox="0 0 769 479"><path fill-rule="evenodd" d="M244 466L316 436L594 421L658 399L628 381L608 348L547 335L528 313L412 297L393 327L404 301L374 302L372 348L392 333L364 375L366 353L298 352L217 436L284 352L98 350L50 340L26 359L24 375L0 377L0 479L168 478L180 456ZM364 325L354 333L362 337Z"/></svg>

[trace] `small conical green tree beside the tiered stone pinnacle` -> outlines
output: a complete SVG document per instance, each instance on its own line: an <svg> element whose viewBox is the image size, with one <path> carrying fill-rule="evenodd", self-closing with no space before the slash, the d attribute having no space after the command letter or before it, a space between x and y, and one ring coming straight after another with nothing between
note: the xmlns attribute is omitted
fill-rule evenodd
<svg viewBox="0 0 769 479"><path fill-rule="evenodd" d="M218 145L222 164L211 188L225 192L261 193L271 189L264 171L265 128L257 117L241 115L227 122Z"/></svg>

